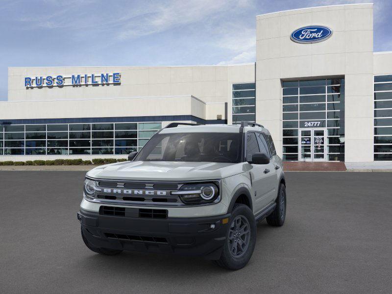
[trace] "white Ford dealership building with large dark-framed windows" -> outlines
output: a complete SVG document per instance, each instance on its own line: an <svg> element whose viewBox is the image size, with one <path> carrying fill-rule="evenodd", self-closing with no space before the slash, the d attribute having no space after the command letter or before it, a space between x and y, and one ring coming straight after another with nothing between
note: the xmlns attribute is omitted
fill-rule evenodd
<svg viewBox="0 0 392 294"><path fill-rule="evenodd" d="M172 122L250 121L286 161L392 161L392 52L373 52L373 4L258 15L255 38L249 64L9 68L0 160L126 158Z"/></svg>

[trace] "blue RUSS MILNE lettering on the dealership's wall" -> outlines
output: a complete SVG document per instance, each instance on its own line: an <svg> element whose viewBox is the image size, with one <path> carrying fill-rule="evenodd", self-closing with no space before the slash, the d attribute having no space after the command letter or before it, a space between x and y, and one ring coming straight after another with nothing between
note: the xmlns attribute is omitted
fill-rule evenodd
<svg viewBox="0 0 392 294"><path fill-rule="evenodd" d="M26 88L120 84L121 73L73 74L25 77Z"/></svg>

